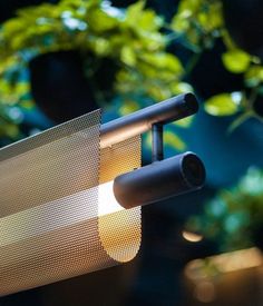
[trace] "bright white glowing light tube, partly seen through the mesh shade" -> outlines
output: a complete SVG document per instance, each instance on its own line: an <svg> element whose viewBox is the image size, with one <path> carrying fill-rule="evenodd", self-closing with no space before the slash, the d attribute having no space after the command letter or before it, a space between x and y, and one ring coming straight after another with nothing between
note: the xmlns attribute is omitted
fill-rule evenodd
<svg viewBox="0 0 263 306"><path fill-rule="evenodd" d="M113 184L99 185L98 213L87 209L87 203L96 193L97 187L94 187L1 218L0 246L123 210L114 197ZM59 219L50 218L53 211L60 214Z"/></svg>

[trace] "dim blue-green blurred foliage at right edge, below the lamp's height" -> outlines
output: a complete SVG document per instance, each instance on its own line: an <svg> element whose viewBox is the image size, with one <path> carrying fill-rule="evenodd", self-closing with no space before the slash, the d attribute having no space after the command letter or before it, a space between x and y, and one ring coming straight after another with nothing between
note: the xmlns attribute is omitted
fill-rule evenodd
<svg viewBox="0 0 263 306"><path fill-rule="evenodd" d="M263 171L250 168L237 186L221 190L186 227L215 240L221 251L263 247Z"/></svg>

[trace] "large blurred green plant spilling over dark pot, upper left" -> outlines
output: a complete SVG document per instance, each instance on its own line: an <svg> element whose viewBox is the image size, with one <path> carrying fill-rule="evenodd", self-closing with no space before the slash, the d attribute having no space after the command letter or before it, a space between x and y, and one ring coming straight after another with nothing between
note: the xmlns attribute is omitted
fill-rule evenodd
<svg viewBox="0 0 263 306"><path fill-rule="evenodd" d="M144 1L120 10L99 0L62 0L19 10L0 30L1 105L30 103L30 60L61 50L80 52L90 80L103 59L117 65L111 92L99 89L96 97L101 105L118 95L123 113L139 108L146 97L159 101L179 93L181 60L165 50L163 19L144 7Z"/></svg>

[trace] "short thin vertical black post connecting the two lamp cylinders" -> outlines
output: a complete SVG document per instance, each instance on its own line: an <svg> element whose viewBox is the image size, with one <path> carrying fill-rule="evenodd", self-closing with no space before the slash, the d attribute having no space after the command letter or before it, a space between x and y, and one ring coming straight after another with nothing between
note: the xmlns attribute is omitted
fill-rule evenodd
<svg viewBox="0 0 263 306"><path fill-rule="evenodd" d="M152 162L164 159L164 126L154 124L152 126Z"/></svg>

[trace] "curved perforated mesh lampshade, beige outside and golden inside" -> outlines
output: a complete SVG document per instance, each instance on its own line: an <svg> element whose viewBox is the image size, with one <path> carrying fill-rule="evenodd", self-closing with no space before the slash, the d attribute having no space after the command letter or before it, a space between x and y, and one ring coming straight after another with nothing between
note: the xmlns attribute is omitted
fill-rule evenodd
<svg viewBox="0 0 263 306"><path fill-rule="evenodd" d="M0 150L0 295L138 251L140 209L98 218L98 185L140 166L140 140L100 154L99 129L98 110Z"/></svg>

